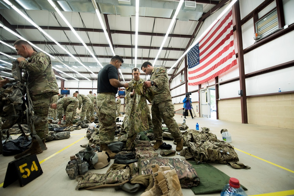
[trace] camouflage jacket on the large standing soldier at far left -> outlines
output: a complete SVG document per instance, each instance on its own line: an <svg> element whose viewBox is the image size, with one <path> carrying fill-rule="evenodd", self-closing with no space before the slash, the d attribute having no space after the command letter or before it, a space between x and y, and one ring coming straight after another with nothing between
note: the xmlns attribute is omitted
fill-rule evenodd
<svg viewBox="0 0 294 196"><path fill-rule="evenodd" d="M21 61L19 68L24 69L22 82L26 82L30 95L52 92L59 93L56 77L49 56L34 52L28 61Z"/></svg>

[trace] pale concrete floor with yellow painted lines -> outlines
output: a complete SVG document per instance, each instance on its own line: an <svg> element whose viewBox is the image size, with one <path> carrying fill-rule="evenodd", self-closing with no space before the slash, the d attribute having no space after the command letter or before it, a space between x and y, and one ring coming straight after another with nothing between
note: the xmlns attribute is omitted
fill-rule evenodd
<svg viewBox="0 0 294 196"><path fill-rule="evenodd" d="M210 128L210 132L217 135L218 139L222 139L222 128L226 128L232 134L231 145L235 147L240 162L249 165L251 169L238 170L228 165L210 164L230 177L239 179L240 183L248 188L248 195L294 195L294 130L207 118L192 120L190 116L187 118L186 124L190 129L195 129L195 124L198 123L199 127ZM175 120L178 123L183 122L181 115L176 115ZM77 182L69 180L65 167L70 155L78 153L82 149L81 144L88 143L88 139L84 138L85 134L86 129L74 130L69 139L46 143L48 149L37 155L44 173L24 187L20 187L17 181L6 188L2 187L7 165L14 158L0 155L0 195L141 195L143 189L136 193L114 190L112 187L75 190ZM13 135L13 138L16 137L18 136ZM170 141L165 142L171 144ZM159 153L160 149L157 152ZM180 155L175 157L185 158ZM110 165L112 163L113 160ZM105 173L108 168L109 166L91 172ZM194 195L190 188L182 189L182 192L185 196ZM216 196L220 193L207 195Z"/></svg>

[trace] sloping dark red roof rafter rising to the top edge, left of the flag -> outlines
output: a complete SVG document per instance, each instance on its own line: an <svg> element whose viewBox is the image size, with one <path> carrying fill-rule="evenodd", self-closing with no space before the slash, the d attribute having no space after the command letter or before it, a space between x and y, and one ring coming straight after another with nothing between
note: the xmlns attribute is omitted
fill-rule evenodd
<svg viewBox="0 0 294 196"><path fill-rule="evenodd" d="M222 0L220 1L220 3L218 3L216 6L214 6L210 12L207 12L206 14L204 14L203 16L201 16L201 18L199 19L198 21L198 24L192 34L192 36L190 37L190 40L189 40L189 43L187 44L186 48L185 48L185 51L190 47L190 44L192 43L192 40L195 38L195 33L198 31L198 29L200 28L200 24L208 17L210 16L212 13L214 13L215 11L217 11L218 9L220 9L222 6L224 6L228 1L230 0ZM182 61L179 61L179 63L177 64L174 72L172 73L172 77L170 77L170 82L172 81L173 79L173 76L175 75L175 73L177 72L180 64L181 64Z"/></svg>

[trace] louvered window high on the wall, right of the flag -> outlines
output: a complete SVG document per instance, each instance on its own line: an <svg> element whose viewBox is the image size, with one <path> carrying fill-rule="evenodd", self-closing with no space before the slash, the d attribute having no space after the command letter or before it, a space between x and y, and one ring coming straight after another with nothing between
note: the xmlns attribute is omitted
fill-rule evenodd
<svg viewBox="0 0 294 196"><path fill-rule="evenodd" d="M255 23L255 40L264 38L279 29L277 9L263 16Z"/></svg>

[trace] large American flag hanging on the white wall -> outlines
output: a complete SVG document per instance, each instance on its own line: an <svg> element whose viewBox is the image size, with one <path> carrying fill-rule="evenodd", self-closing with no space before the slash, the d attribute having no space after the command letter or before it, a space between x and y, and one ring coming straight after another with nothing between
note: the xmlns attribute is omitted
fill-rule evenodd
<svg viewBox="0 0 294 196"><path fill-rule="evenodd" d="M237 64L232 10L187 53L188 84L205 83Z"/></svg>

